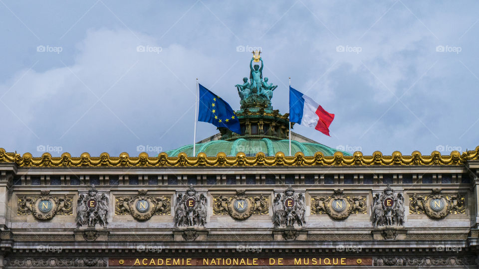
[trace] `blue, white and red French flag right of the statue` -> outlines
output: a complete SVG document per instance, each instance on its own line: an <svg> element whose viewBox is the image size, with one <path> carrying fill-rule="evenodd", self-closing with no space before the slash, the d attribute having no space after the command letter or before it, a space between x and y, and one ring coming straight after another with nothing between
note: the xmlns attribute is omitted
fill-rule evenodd
<svg viewBox="0 0 479 269"><path fill-rule="evenodd" d="M333 119L334 114L328 113L311 98L289 86L290 122L307 127L314 127L314 129L319 132L329 135L329 125Z"/></svg>

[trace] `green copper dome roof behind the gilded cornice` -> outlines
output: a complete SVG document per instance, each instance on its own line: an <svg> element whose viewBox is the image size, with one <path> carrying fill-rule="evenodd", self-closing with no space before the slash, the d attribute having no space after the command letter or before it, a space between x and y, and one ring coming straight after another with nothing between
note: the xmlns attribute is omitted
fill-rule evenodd
<svg viewBox="0 0 479 269"><path fill-rule="evenodd" d="M289 152L289 140L271 140L269 138L244 139L238 138L232 141L215 140L206 143L196 144L196 152L205 152L209 157L215 157L219 152L225 152L228 156L236 156L238 152L244 152L246 156L255 156L258 152L263 152L266 156L274 156L276 152ZM302 152L305 156L313 156L316 152L322 152L325 156L332 156L338 151L335 148L325 146L320 143L298 142L291 140L291 154ZM193 156L193 144L182 146L177 149L169 150L168 156L177 156L180 152L185 152L188 156ZM344 155L350 154L343 151Z"/></svg>

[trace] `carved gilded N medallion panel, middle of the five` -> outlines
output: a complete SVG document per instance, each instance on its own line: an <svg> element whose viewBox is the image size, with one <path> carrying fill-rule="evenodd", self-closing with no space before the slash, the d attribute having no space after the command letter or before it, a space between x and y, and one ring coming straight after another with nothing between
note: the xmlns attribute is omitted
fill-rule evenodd
<svg viewBox="0 0 479 269"><path fill-rule="evenodd" d="M244 190L237 190L235 196L220 195L213 197L213 214L230 215L237 220L245 220L252 214L269 214L269 197L245 196Z"/></svg>

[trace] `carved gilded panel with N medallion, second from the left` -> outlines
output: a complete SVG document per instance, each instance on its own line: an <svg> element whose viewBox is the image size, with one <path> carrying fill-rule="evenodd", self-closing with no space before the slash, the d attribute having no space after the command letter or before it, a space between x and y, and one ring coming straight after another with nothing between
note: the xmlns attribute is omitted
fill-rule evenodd
<svg viewBox="0 0 479 269"><path fill-rule="evenodd" d="M147 190L139 190L137 196L118 196L115 198L115 214L129 215L139 221L149 220L153 215L171 214L171 197L147 195Z"/></svg>

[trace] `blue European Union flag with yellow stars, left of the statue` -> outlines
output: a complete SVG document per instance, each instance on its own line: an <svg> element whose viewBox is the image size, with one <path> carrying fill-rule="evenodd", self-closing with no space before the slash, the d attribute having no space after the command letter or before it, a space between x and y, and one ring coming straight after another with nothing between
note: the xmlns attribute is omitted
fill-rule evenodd
<svg viewBox="0 0 479 269"><path fill-rule="evenodd" d="M201 84L198 121L212 123L216 127L225 127L232 132L241 134L240 121L230 104Z"/></svg>

